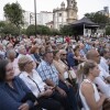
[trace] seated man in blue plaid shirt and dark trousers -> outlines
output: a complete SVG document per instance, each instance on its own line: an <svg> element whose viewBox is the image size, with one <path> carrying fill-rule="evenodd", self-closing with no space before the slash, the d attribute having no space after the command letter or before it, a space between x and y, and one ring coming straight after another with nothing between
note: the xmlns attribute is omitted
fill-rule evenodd
<svg viewBox="0 0 110 110"><path fill-rule="evenodd" d="M77 110L73 87L64 80L53 65L53 52L45 50L44 61L38 65L37 72L48 86L53 86L63 97L67 97L72 110Z"/></svg>

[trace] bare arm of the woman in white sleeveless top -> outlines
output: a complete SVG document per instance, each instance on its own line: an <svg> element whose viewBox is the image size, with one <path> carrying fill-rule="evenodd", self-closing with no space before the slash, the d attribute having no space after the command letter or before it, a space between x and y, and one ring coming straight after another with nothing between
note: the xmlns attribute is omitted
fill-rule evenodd
<svg viewBox="0 0 110 110"><path fill-rule="evenodd" d="M106 97L102 96L100 98L100 100L98 102L96 102L95 90L94 90L94 87L92 87L91 84L88 84L88 82L84 84L81 86L81 92L82 92L84 97L86 98L90 110L99 110L99 109L101 109Z"/></svg>

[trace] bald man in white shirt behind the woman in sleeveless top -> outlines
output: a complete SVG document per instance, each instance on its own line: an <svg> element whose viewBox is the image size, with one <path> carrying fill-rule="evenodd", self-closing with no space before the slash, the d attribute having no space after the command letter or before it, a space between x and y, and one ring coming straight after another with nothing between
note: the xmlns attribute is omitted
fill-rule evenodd
<svg viewBox="0 0 110 110"><path fill-rule="evenodd" d="M110 75L107 73L99 64L100 64L100 55L97 50L90 50L87 53L87 58L95 61L100 69L99 77L95 79L95 82L98 85L101 92L103 92L107 98L110 98Z"/></svg>

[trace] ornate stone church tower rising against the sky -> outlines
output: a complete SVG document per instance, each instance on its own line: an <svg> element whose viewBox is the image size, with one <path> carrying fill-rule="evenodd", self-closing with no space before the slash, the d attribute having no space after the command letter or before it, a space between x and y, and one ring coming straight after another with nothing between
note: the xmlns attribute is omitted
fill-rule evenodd
<svg viewBox="0 0 110 110"><path fill-rule="evenodd" d="M77 2L76 0L67 0L67 23L73 23L77 20Z"/></svg>

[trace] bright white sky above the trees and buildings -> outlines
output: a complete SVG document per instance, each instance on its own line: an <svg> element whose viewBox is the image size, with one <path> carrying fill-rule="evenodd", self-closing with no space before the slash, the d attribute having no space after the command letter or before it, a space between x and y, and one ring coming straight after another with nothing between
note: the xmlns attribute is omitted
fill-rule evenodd
<svg viewBox="0 0 110 110"><path fill-rule="evenodd" d="M0 20L3 19L3 7L6 3L18 1L25 11L34 12L34 0L0 0ZM40 11L53 11L53 9L61 7L62 1L66 0L36 0L36 9ZM82 18L87 12L96 12L102 10L103 7L109 7L110 0L76 0L78 6L78 18Z"/></svg>

